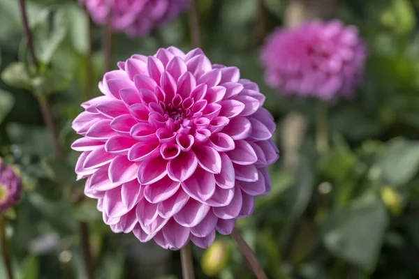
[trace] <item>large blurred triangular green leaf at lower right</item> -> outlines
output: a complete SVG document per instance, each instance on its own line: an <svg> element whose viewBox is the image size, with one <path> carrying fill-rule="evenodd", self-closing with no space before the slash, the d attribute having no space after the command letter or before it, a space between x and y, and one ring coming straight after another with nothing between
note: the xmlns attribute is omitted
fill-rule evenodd
<svg viewBox="0 0 419 279"><path fill-rule="evenodd" d="M372 271L387 225L387 211L381 199L366 193L353 200L349 208L332 212L321 225L321 234L332 254Z"/></svg>

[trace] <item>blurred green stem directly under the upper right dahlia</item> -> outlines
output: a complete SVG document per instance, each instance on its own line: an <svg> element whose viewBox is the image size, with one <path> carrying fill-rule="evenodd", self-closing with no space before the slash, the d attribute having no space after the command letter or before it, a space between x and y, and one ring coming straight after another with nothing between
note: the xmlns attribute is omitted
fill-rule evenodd
<svg viewBox="0 0 419 279"><path fill-rule="evenodd" d="M316 105L316 147L319 153L328 150L328 105L318 101Z"/></svg>

